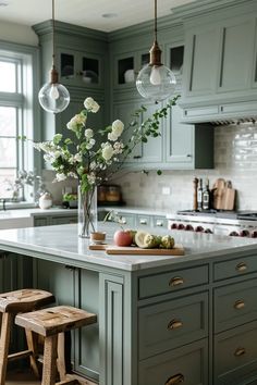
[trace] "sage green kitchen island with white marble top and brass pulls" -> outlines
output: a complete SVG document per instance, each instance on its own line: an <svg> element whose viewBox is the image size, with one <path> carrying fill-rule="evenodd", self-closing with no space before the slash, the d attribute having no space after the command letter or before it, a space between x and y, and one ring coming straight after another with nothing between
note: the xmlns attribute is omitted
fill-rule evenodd
<svg viewBox="0 0 257 385"><path fill-rule="evenodd" d="M102 229L110 241L117 226ZM1 290L34 285L97 313L72 361L100 385L254 384L257 241L171 234L185 256L91 251L76 225L1 231Z"/></svg>

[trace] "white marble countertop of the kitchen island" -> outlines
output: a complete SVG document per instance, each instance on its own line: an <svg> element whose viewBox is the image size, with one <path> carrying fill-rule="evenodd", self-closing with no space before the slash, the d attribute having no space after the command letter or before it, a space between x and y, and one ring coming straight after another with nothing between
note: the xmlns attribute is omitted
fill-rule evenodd
<svg viewBox="0 0 257 385"><path fill-rule="evenodd" d="M100 224L106 231L107 241L111 243L117 225ZM152 231L152 228L151 228ZM155 229L155 234L167 234L167 229ZM191 232L169 232L178 244L185 248L185 256L109 256L105 251L88 249L88 239L77 236L76 225L59 225L47 227L30 227L0 231L0 250L33 254L44 253L47 259L58 262L79 265L95 264L115 268L125 271L143 270L148 268L170 265L178 262L197 261L206 258L231 256L235 252L257 251L257 240L252 238L223 237L212 234Z"/></svg>

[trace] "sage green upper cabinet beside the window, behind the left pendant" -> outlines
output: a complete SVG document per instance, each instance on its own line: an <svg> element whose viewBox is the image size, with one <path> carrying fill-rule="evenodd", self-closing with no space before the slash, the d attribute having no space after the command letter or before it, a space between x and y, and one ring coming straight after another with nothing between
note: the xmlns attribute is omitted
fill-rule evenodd
<svg viewBox="0 0 257 385"><path fill-rule="evenodd" d="M49 82L52 65L52 23L47 21L35 25L34 30L39 37L41 53L41 84ZM102 128L109 119L109 109L105 108L105 99L109 92L109 63L107 35L89 28L56 22L56 67L59 80L69 90L71 101L59 114L42 111L42 140L51 140L56 133L69 135L66 123L84 109L87 97L95 98L101 109L91 117ZM93 114L90 114L93 115Z"/></svg>

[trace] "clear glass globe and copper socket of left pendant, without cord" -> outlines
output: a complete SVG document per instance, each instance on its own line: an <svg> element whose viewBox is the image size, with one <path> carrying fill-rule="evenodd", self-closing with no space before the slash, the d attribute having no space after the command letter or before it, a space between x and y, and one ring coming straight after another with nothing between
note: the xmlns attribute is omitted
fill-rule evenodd
<svg viewBox="0 0 257 385"><path fill-rule="evenodd" d="M58 73L54 69L51 71L51 82L45 84L39 90L38 100L44 110L52 113L62 112L69 105L70 94L58 83Z"/></svg>

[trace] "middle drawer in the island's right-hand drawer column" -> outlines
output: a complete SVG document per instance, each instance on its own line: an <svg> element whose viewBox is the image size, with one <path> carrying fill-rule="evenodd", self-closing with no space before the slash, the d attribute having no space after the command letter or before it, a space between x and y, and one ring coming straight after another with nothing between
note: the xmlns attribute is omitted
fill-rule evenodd
<svg viewBox="0 0 257 385"><path fill-rule="evenodd" d="M257 319L257 280L215 290L216 333Z"/></svg>

